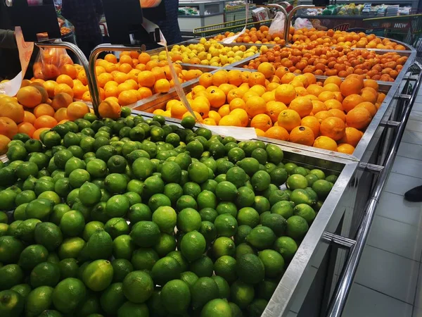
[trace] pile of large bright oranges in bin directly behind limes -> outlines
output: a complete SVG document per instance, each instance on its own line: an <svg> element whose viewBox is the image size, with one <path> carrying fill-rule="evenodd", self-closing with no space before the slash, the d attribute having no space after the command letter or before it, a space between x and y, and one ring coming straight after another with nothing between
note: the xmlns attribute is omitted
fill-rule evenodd
<svg viewBox="0 0 422 317"><path fill-rule="evenodd" d="M203 73L186 97L196 119L207 125L255 128L257 135L352 154L385 94L375 80L352 74L316 82L312 73L281 77L271 63L258 72ZM177 99L155 114L191 116Z"/></svg>

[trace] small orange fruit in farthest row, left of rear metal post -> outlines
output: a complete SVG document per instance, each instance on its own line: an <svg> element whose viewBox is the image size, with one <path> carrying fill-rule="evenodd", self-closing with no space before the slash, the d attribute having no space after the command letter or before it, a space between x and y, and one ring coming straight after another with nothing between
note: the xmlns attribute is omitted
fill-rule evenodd
<svg viewBox="0 0 422 317"><path fill-rule="evenodd" d="M217 35L214 39L222 41L226 37L234 36L234 32L224 32L224 35ZM286 45L284 40L284 35L282 32L269 33L269 27L267 25L260 26L259 29L256 27L251 27L246 29L245 33L240 35L237 39L234 40L236 43L254 43L254 44L279 44Z"/></svg>

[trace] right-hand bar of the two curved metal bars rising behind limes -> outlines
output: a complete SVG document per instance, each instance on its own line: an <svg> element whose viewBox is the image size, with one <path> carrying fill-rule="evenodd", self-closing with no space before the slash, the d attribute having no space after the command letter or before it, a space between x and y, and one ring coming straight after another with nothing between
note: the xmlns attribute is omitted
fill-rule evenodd
<svg viewBox="0 0 422 317"><path fill-rule="evenodd" d="M91 94L92 99L92 106L94 107L94 111L98 116L98 106L101 104L101 94L100 94L100 87L98 86L98 80L96 77L95 71L95 63L98 58L98 55L101 54L103 51L133 51L136 47L133 46L124 46L124 45L113 45L113 44L100 44L96 46L92 51L91 55L89 56L89 77L91 77L92 83L92 92L89 91Z"/></svg>

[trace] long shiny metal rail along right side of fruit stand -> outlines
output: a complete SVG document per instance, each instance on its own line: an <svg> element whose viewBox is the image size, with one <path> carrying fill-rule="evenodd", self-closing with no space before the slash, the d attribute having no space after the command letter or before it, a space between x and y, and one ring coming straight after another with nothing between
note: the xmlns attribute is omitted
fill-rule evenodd
<svg viewBox="0 0 422 317"><path fill-rule="evenodd" d="M385 167L378 175L376 185L373 189L373 194L371 195L368 204L366 204L364 218L362 219L362 223L359 226L359 230L356 235L356 244L354 244L354 247L350 249L350 254L347 257L345 268L343 269L343 272L340 275L340 280L335 287L333 297L331 298L331 302L328 306L328 313L326 314L327 317L340 317L343 313L343 309L345 308L347 296L349 295L350 288L352 287L354 274L357 271L357 266L359 265L362 252L364 251L366 239L369 235L369 230L371 229L371 224L376 211L376 207L378 205L378 200L381 197L381 193L383 192L385 184L387 183L388 175L392 168L392 164L394 163L395 156L397 155L400 141L402 140L404 129L406 128L407 120L410 116L411 108L414 104L416 95L418 94L418 89L421 85L422 65L418 62L415 62L414 65L416 65L420 70L418 80L416 81L416 85L414 87L414 92L412 93L411 98L409 99L408 106L404 110L402 123L397 129L397 135L395 136L394 142L392 143L392 147L388 153L387 159L385 160Z"/></svg>

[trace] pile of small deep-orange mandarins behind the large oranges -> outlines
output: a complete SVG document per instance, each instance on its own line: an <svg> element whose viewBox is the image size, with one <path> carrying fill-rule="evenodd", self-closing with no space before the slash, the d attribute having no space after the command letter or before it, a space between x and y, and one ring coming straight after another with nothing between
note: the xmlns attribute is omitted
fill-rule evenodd
<svg viewBox="0 0 422 317"><path fill-rule="evenodd" d="M286 72L340 77L357 74L368 79L393 82L406 61L407 56L395 52L376 54L366 49L344 49L343 46L298 49L293 45L261 48L261 55L243 67L260 69L261 63L269 62L279 72L279 77Z"/></svg>

